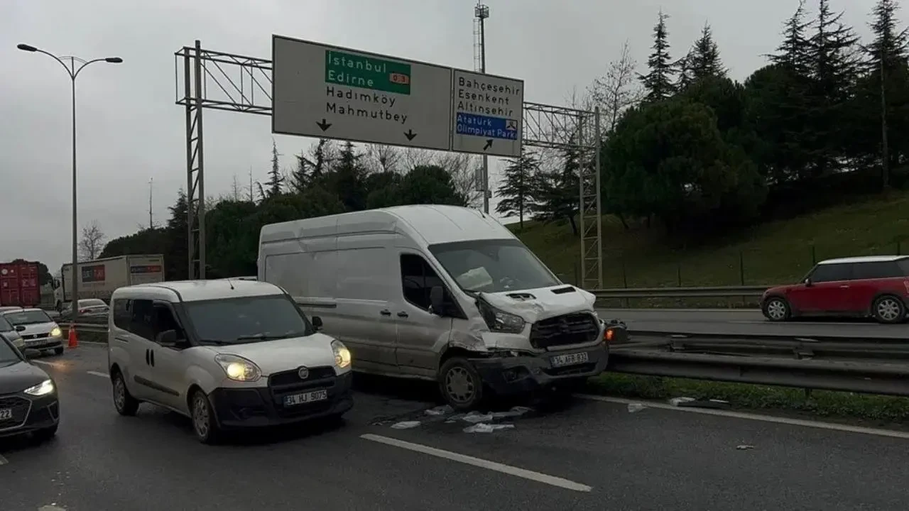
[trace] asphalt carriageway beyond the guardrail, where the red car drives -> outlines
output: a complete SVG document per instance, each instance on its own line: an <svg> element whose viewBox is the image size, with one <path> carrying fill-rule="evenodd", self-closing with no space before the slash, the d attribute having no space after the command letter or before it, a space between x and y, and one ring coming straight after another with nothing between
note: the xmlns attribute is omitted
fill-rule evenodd
<svg viewBox="0 0 909 511"><path fill-rule="evenodd" d="M728 336L848 336L909 338L909 324L879 325L862 319L797 319L771 323L759 310L749 309L601 309L604 319L621 319L629 331Z"/></svg>

